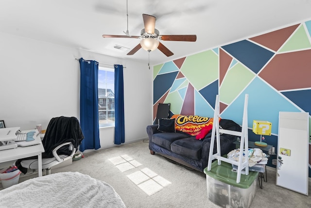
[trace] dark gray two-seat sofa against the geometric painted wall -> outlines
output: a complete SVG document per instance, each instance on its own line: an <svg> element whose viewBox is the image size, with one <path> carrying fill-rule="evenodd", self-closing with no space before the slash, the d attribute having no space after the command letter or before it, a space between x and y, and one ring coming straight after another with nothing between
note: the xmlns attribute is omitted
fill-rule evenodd
<svg viewBox="0 0 311 208"><path fill-rule="evenodd" d="M220 120L220 128L241 132L237 123L228 119ZM159 132L158 125L147 126L149 136L149 149L151 154L160 154L179 164L194 170L202 171L207 167L211 131L202 140L195 139L184 132ZM237 136L229 134L220 135L221 154L227 154L235 149L233 142ZM216 142L214 152L216 153Z"/></svg>

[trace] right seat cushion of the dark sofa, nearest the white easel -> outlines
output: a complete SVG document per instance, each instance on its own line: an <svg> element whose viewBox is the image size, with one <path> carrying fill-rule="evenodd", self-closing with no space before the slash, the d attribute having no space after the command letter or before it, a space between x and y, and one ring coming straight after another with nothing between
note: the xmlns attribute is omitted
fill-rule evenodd
<svg viewBox="0 0 311 208"><path fill-rule="evenodd" d="M203 140L197 140L193 137L179 139L171 144L171 150L176 154L200 160L202 142Z"/></svg>

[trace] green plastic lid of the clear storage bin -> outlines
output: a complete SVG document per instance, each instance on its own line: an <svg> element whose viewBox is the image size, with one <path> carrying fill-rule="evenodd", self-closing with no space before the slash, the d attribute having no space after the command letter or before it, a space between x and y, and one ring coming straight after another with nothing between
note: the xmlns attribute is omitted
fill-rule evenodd
<svg viewBox="0 0 311 208"><path fill-rule="evenodd" d="M207 171L206 167L204 173L223 183L242 189L248 189L258 177L258 172L249 171L248 175L241 174L241 181L237 183L238 174L232 171L232 165L224 161L221 162L221 165L218 165L217 160L215 160L211 165L210 171Z"/></svg>

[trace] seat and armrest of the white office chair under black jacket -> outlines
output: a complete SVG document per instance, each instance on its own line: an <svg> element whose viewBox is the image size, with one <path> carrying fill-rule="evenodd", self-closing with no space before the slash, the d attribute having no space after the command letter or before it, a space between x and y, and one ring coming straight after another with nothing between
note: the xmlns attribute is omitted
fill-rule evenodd
<svg viewBox="0 0 311 208"><path fill-rule="evenodd" d="M69 150L72 151L70 155L65 154L57 154L57 150L60 149L63 146L69 145ZM72 158L73 154L76 152L76 149L73 147L71 142L63 143L59 146L57 146L53 150L53 156L51 158L42 158L42 169L46 169L46 174L51 174L51 167L58 165L59 163L62 163L70 158ZM30 159L30 160L22 160L20 162L20 165L24 168L31 169L31 170L37 170L38 169L38 159Z"/></svg>

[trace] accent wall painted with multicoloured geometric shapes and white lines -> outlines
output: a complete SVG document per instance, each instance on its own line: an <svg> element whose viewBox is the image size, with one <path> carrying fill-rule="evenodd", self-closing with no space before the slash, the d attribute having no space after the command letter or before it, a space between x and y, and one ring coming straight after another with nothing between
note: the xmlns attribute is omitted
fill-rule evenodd
<svg viewBox="0 0 311 208"><path fill-rule="evenodd" d="M311 114L311 21L154 66L154 118L157 103L171 103L171 114L212 117L219 95L221 117L242 125L245 94L248 127L270 121L275 147L279 112Z"/></svg>

